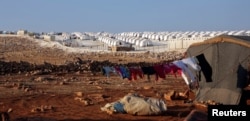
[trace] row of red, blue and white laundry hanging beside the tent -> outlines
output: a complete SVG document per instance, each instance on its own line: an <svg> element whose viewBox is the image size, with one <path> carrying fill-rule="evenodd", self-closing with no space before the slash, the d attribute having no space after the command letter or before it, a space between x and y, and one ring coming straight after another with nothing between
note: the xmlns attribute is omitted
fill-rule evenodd
<svg viewBox="0 0 250 121"><path fill-rule="evenodd" d="M159 78L166 79L166 75L173 74L176 78L177 75L181 76L187 85L196 84L197 72L201 70L196 57L184 58L168 63L158 63L148 66L103 66L103 75L107 78L110 77L110 73L119 75L121 78L128 80L137 80L137 77L143 79L145 75L150 80L150 75L155 75L155 81ZM197 85L196 85L197 86Z"/></svg>

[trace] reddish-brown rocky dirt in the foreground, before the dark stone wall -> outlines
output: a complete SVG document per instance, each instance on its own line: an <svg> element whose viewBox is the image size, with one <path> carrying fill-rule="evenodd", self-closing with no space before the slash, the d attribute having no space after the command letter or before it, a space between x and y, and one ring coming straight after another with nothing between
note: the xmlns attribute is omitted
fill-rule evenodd
<svg viewBox="0 0 250 121"><path fill-rule="evenodd" d="M39 80L40 77L45 77L45 79ZM49 80L46 80L46 78ZM2 80L5 82L3 83ZM169 90L184 91L185 85L183 81L173 79L173 77L154 84L153 82L145 82L143 79L128 82L116 75L113 75L108 80L103 75L93 77L90 74L67 74L63 77L56 75L11 75L1 76L1 82L0 110L7 111L11 109L10 116L12 120L181 121L192 108L191 105L183 105L183 101L179 100L168 102L168 109L171 111L162 116L108 115L100 110L106 103L116 101L128 93L161 98L161 94ZM24 86L18 88L18 84ZM150 86L151 89L144 89L145 86ZM91 104L86 105L86 103L76 100L77 95L75 92L82 92L83 97L89 99ZM40 110L41 108L44 110Z"/></svg>

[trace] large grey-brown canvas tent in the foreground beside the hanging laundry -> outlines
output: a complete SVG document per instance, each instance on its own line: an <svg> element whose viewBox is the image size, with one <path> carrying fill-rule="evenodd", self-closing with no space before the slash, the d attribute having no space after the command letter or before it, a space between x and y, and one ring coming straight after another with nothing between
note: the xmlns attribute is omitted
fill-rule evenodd
<svg viewBox="0 0 250 121"><path fill-rule="evenodd" d="M194 43L187 56L196 56L201 66L196 101L239 104L242 89L249 84L249 36L221 35Z"/></svg>

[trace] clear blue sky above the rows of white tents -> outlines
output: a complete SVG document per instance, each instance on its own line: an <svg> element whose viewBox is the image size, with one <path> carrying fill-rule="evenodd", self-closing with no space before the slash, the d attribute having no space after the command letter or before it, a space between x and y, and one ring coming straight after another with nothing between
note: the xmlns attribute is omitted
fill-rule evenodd
<svg viewBox="0 0 250 121"><path fill-rule="evenodd" d="M250 0L1 0L0 30L250 30Z"/></svg>

